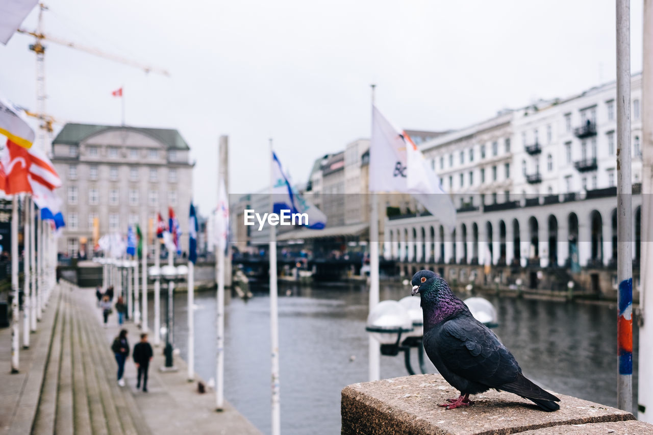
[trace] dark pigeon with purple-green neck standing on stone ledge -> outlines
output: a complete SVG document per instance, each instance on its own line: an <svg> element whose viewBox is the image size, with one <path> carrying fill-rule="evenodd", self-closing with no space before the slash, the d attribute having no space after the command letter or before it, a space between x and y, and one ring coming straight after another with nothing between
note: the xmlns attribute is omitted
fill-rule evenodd
<svg viewBox="0 0 653 435"><path fill-rule="evenodd" d="M471 315L441 276L421 270L413 276L412 295L419 293L424 314L424 350L460 396L439 406L453 410L473 404L470 395L489 389L532 400L544 411L560 409L560 399L522 374L515 357L497 336Z"/></svg>

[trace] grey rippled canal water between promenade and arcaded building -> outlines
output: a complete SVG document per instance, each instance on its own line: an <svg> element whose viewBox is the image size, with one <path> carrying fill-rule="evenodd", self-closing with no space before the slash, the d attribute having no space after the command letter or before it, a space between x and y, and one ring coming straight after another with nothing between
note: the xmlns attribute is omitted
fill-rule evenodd
<svg viewBox="0 0 653 435"><path fill-rule="evenodd" d="M225 307L225 397L269 434L270 299L267 287L251 290L254 297L250 300L232 298ZM165 293L163 288L162 296ZM381 300L398 300L409 294L410 288L398 283L381 285ZM498 310L499 327L494 331L528 378L565 395L616 406L614 306L488 298ZM180 293L174 299L175 346L185 358L186 295ZM215 376L215 293L197 293L195 303L195 363L199 376L208 380ZM150 300L150 313L152 304ZM163 297L161 308L165 309ZM351 383L366 381L368 376L367 314L365 286L299 287L279 283L284 434L340 433L340 391ZM635 330L635 355L637 337ZM417 369L416 360L413 353ZM428 370L435 372L430 362ZM636 389L636 363L634 370ZM381 357L381 378L406 374L401 355Z"/></svg>

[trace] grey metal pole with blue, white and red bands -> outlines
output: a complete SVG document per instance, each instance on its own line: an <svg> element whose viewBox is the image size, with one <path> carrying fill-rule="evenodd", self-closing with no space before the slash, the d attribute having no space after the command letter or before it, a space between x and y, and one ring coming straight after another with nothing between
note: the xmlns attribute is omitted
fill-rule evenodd
<svg viewBox="0 0 653 435"><path fill-rule="evenodd" d="M633 210L630 152L630 1L616 1L617 406L633 410Z"/></svg>

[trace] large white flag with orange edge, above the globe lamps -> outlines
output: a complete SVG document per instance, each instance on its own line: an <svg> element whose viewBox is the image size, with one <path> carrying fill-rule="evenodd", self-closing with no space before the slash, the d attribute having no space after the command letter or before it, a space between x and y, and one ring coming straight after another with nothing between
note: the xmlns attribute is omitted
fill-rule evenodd
<svg viewBox="0 0 653 435"><path fill-rule="evenodd" d="M449 229L456 209L435 172L406 132L399 133L373 106L370 142L370 192L410 193Z"/></svg>

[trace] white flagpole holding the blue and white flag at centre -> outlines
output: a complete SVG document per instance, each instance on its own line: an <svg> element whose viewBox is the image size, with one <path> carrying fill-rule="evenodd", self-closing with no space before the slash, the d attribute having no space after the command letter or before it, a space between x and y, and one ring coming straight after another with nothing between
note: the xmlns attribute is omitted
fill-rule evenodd
<svg viewBox="0 0 653 435"><path fill-rule="evenodd" d="M274 159L272 158L272 139L270 139L270 212L274 210ZM277 232L270 228L270 338L272 344L272 435L281 433L281 400L279 392L279 313L277 306Z"/></svg>

